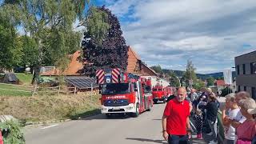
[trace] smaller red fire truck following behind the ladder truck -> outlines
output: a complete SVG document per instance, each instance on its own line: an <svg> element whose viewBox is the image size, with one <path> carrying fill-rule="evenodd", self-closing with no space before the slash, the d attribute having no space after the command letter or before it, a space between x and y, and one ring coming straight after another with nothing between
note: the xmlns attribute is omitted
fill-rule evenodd
<svg viewBox="0 0 256 144"><path fill-rule="evenodd" d="M153 94L153 102L157 103L159 101L162 101L163 103L166 103L167 98L170 95L174 94L174 88L171 86L160 86L157 84L152 88L152 94Z"/></svg>

